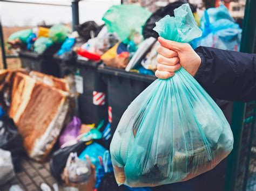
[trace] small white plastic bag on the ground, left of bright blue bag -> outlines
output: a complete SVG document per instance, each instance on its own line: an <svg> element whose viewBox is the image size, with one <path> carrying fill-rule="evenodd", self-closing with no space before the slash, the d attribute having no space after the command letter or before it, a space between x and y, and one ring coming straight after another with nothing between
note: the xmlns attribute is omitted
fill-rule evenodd
<svg viewBox="0 0 256 191"><path fill-rule="evenodd" d="M66 169L68 180L71 183L85 183L92 175L90 162L79 159L77 153L69 154Z"/></svg>

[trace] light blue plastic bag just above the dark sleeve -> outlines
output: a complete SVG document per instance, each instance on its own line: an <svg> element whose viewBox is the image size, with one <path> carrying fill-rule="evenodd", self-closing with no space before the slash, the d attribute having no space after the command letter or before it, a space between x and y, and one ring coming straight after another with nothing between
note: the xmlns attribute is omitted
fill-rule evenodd
<svg viewBox="0 0 256 191"><path fill-rule="evenodd" d="M239 51L242 30L224 5L205 10L200 28L203 36L195 40L196 46Z"/></svg>

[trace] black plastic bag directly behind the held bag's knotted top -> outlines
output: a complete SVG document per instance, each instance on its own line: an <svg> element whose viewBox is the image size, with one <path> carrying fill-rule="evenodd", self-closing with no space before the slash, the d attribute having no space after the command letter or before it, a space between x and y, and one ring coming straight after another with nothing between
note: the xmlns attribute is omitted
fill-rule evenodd
<svg viewBox="0 0 256 191"><path fill-rule="evenodd" d="M164 6L163 8L159 8L158 10L153 12L151 17L149 19L147 19L145 25L143 26L142 34L143 34L144 39L147 39L150 37L154 37L157 39L159 37L159 35L156 31L153 31L153 27L156 26L156 22L158 22L158 20L165 17L166 15L170 15L171 17L173 17L174 9L178 8L180 5L182 5L184 3L186 3L186 2L177 1L177 2L173 2L173 3L169 3L168 5ZM192 4L190 4L190 8L191 8L192 12L197 11L196 6L194 6Z"/></svg>

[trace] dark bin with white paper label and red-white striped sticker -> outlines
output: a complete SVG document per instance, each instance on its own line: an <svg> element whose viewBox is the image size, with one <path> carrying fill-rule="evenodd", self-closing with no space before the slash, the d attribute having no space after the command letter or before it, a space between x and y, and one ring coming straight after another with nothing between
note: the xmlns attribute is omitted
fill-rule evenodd
<svg viewBox="0 0 256 191"><path fill-rule="evenodd" d="M106 85L99 77L99 62L77 59L75 67L79 116L83 123L107 121Z"/></svg>

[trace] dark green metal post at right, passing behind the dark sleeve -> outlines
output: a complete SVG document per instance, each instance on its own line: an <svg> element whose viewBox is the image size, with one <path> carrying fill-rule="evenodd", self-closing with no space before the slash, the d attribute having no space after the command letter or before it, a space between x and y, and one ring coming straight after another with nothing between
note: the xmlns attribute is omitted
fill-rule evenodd
<svg viewBox="0 0 256 191"><path fill-rule="evenodd" d="M242 39L240 52L253 52L254 36L256 27L256 1L247 0L245 6L244 23L242 25ZM228 156L227 172L225 178L225 191L233 191L236 185L238 175L238 165L240 156L240 146L242 137L242 128L245 114L245 103L234 102L231 128L234 135L234 149ZM254 125L254 124L253 124ZM250 151L249 151L250 152ZM250 156L250 154L248 154Z"/></svg>

